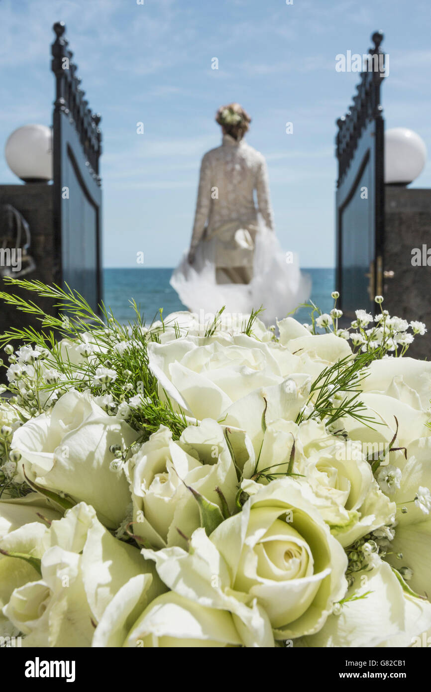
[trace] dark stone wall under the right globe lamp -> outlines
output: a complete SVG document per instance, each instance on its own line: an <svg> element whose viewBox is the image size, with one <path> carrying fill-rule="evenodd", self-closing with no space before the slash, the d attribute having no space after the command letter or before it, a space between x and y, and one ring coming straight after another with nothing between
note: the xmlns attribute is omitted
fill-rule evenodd
<svg viewBox="0 0 431 692"><path fill-rule="evenodd" d="M413 248L431 250L431 190L385 188L384 307L405 320L425 322L428 334L416 336L408 356L431 360L431 266L412 266ZM431 252L430 252L431 265Z"/></svg>

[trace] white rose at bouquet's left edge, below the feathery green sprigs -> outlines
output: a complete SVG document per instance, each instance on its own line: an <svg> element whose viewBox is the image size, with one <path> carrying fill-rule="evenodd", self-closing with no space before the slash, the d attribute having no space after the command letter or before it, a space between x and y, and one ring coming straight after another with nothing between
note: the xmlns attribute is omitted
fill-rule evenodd
<svg viewBox="0 0 431 692"><path fill-rule="evenodd" d="M38 486L84 500L107 526L116 527L127 514L130 493L125 475L109 470L110 447L126 448L137 437L91 397L71 391L55 403L51 415L44 413L16 430L12 448L22 455L21 480L25 472Z"/></svg>

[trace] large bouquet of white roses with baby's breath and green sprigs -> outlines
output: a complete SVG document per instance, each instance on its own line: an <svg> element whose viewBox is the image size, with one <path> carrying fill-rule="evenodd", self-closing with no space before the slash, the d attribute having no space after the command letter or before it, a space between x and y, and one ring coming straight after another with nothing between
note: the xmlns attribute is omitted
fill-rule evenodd
<svg viewBox="0 0 431 692"><path fill-rule="evenodd" d="M120 325L13 282L59 316L1 295L41 322L1 342L1 637L421 646L431 363L404 354L424 325L380 298L349 329L336 304L279 336L257 313Z"/></svg>

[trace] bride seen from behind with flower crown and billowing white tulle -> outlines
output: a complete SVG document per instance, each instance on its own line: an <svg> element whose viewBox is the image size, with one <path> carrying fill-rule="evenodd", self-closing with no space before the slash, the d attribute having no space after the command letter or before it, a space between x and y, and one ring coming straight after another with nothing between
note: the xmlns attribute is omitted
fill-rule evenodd
<svg viewBox="0 0 431 692"><path fill-rule="evenodd" d="M270 325L309 298L311 280L275 237L265 158L244 141L250 116L231 103L216 121L223 140L203 156L190 250L170 283L194 313L262 305Z"/></svg>

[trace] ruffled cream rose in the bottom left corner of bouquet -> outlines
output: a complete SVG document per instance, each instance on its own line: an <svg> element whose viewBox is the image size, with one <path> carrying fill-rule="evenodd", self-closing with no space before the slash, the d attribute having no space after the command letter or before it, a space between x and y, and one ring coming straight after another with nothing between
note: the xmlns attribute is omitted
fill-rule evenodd
<svg viewBox="0 0 431 692"><path fill-rule="evenodd" d="M31 561L40 572L38 579L18 585L3 607L3 615L26 635L24 646L91 646L104 610L130 579L145 574L148 599L163 591L152 579L151 563L113 538L84 502L49 528L28 524L12 531L0 547L8 561Z"/></svg>

